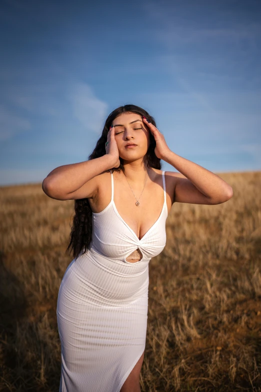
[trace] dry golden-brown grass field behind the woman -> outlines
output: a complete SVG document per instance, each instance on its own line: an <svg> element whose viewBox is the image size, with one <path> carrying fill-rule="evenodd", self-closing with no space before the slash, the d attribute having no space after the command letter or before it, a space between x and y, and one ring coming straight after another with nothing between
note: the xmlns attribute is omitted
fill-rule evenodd
<svg viewBox="0 0 261 392"><path fill-rule="evenodd" d="M142 391L261 391L261 172L218 175L233 197L174 203L149 262ZM58 390L72 216L41 184L0 188L0 391Z"/></svg>

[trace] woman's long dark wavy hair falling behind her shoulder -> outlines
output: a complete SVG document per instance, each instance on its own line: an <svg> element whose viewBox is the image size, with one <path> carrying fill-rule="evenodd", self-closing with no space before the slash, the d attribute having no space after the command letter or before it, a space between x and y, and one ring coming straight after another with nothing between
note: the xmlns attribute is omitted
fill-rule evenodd
<svg viewBox="0 0 261 392"><path fill-rule="evenodd" d="M109 131L109 127L112 124L113 120L119 116L121 113L136 113L141 116L145 116L151 124L156 127L155 120L152 116L148 114L144 109L135 105L124 105L120 106L117 109L111 112L104 124L102 133L100 138L98 139L96 146L92 153L89 155L88 160L102 157L106 154L105 143L107 141L107 133ZM153 167L155 169L161 169L161 161L156 157L154 149L156 147L155 139L151 132L149 132L149 147L147 149L147 153L145 155L147 167ZM120 165L117 168L111 168L112 172L122 170L124 173L124 166L122 165L123 160L119 157ZM70 253L71 251L74 258L81 253L85 253L88 249L89 243L91 241L92 234L92 224L91 224L91 208L89 205L89 201L87 198L85 199L77 199L74 200L74 217L73 223L71 226L70 232L70 240L69 245L66 249L66 252Z"/></svg>

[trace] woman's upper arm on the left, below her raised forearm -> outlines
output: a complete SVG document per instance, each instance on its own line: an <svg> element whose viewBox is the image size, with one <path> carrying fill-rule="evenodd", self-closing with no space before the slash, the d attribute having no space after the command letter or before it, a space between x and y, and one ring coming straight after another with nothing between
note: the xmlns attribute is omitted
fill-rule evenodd
<svg viewBox="0 0 261 392"><path fill-rule="evenodd" d="M57 190L55 190L55 187L51 186L51 181L49 182L48 187L44 187L43 183L42 189L47 196L56 200L76 200L84 198L94 199L98 192L99 181L99 175L95 176L89 181L86 181L79 189L67 194L61 194Z"/></svg>

